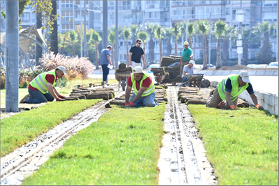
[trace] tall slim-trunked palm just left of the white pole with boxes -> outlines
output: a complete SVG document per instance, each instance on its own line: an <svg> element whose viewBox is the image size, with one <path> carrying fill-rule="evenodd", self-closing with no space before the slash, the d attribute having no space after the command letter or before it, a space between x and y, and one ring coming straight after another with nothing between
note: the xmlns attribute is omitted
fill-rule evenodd
<svg viewBox="0 0 279 186"><path fill-rule="evenodd" d="M224 35L225 32L225 22L218 20L215 24L215 34L218 38L217 43L217 61L216 61L216 69L222 67L222 57L221 57L221 36Z"/></svg>

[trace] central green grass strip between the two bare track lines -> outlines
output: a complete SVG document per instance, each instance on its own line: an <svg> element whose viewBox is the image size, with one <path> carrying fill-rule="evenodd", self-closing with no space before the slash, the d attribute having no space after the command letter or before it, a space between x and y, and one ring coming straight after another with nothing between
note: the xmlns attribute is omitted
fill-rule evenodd
<svg viewBox="0 0 279 186"><path fill-rule="evenodd" d="M116 107L70 137L23 185L158 185L165 104Z"/></svg>

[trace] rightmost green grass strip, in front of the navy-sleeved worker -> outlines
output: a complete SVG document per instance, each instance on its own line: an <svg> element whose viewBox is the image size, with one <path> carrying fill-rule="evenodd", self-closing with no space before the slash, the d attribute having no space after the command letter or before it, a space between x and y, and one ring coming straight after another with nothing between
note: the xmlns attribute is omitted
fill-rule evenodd
<svg viewBox="0 0 279 186"><path fill-rule="evenodd" d="M278 185L278 116L188 107L219 185Z"/></svg>

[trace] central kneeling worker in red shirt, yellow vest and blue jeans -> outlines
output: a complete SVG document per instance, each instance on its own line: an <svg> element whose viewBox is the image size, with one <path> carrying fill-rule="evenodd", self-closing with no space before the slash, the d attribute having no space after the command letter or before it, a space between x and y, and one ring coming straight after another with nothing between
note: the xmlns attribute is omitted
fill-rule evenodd
<svg viewBox="0 0 279 186"><path fill-rule="evenodd" d="M133 95L130 91L133 88ZM125 106L130 107L156 107L158 102L155 99L155 86L152 78L142 70L141 66L135 66L133 74L128 77L127 88L125 94Z"/></svg>

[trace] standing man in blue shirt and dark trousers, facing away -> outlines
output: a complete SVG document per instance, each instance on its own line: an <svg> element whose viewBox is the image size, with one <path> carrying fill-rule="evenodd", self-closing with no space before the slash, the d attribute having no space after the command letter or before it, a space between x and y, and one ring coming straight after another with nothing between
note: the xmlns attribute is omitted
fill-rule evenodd
<svg viewBox="0 0 279 186"><path fill-rule="evenodd" d="M112 62L110 62L110 51L112 50L112 46L108 45L106 49L102 49L100 52L100 65L102 65L103 70L103 82L107 82L107 75L110 73L110 68L107 66Z"/></svg>

